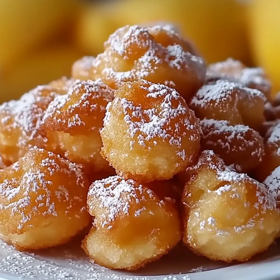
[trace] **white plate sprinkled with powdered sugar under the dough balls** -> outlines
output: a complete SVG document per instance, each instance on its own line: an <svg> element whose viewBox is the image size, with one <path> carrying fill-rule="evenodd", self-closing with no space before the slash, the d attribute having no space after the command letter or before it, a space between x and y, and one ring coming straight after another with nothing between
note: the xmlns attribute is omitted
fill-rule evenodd
<svg viewBox="0 0 280 280"><path fill-rule="evenodd" d="M2 277L2 278L1 278ZM181 246L136 272L113 271L89 262L76 240L61 247L22 253L0 241L0 280L277 280L280 242L251 262L228 266L193 255Z"/></svg>

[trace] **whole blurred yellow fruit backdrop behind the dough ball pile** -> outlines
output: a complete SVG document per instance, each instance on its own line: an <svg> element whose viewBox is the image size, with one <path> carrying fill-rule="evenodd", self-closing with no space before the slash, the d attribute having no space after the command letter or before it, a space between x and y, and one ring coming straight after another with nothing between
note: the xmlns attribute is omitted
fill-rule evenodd
<svg viewBox="0 0 280 280"><path fill-rule="evenodd" d="M126 24L170 22L207 63L262 66L280 90L280 0L0 0L0 102L70 75Z"/></svg>

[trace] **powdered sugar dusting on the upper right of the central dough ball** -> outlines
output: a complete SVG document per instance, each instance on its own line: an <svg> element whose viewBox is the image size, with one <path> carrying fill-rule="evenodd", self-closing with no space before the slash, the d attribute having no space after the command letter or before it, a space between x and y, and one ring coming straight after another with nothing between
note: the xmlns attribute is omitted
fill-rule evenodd
<svg viewBox="0 0 280 280"><path fill-rule="evenodd" d="M137 136L137 144L148 146L148 142L153 141L157 145L160 141L169 141L169 144L181 148L182 137L190 133L189 140L197 141L200 138L200 126L198 120L194 117L193 111L189 110L183 103L176 90L161 84L153 84L143 81L141 89L146 91L146 98L151 98L151 103L157 106L151 106L150 109L143 109L141 104L129 101L125 98L115 97L113 102L107 106L106 116L104 118L104 127L108 124L111 116L110 108L122 108L124 121L128 124L127 133L131 138ZM160 105L159 100L161 101ZM176 121L175 128L172 128L172 122ZM133 149L136 141L130 141ZM185 151L179 150L178 155L184 160Z"/></svg>

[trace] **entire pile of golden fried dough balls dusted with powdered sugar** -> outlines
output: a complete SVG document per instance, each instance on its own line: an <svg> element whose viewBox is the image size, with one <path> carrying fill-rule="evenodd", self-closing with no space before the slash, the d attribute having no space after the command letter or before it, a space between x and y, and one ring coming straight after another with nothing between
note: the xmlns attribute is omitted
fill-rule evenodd
<svg viewBox="0 0 280 280"><path fill-rule="evenodd" d="M180 241L243 262L279 236L280 97L170 27L118 29L0 118L0 237L19 250L84 234L94 262L135 270Z"/></svg>

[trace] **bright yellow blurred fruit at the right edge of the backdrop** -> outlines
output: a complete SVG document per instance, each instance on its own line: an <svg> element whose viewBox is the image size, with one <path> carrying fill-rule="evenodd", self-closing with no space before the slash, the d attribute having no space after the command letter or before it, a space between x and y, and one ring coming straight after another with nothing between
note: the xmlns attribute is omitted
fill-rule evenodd
<svg viewBox="0 0 280 280"><path fill-rule="evenodd" d="M248 13L253 58L265 69L276 93L280 90L280 0L251 1Z"/></svg>

